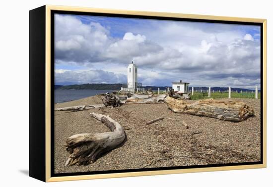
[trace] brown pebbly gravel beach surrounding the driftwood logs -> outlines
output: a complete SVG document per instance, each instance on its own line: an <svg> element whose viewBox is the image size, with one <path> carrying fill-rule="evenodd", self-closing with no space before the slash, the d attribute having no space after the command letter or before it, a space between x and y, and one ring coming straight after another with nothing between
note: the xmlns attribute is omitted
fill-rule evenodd
<svg viewBox="0 0 273 187"><path fill-rule="evenodd" d="M59 103L55 107L100 104L101 98L96 95ZM55 173L260 161L260 99L232 100L240 100L253 107L255 117L242 122L222 121L177 114L170 111L165 103L55 112ZM100 121L91 118L91 112L109 115L119 122L125 128L127 140L92 164L66 167L69 153L65 144L68 137L110 131ZM146 121L158 117L164 119L146 125ZM185 128L182 120L186 121L189 129Z"/></svg>

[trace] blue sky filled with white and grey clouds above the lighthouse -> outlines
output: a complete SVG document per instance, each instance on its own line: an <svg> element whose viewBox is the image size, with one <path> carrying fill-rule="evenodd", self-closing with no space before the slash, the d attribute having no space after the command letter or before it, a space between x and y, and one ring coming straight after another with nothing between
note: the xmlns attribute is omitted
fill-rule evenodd
<svg viewBox="0 0 273 187"><path fill-rule="evenodd" d="M55 14L55 84L260 88L260 27Z"/></svg>

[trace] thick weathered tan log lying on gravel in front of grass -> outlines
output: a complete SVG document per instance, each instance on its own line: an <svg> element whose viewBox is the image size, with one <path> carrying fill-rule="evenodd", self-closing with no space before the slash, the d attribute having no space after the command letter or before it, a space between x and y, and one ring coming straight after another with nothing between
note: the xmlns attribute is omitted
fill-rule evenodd
<svg viewBox="0 0 273 187"><path fill-rule="evenodd" d="M242 121L254 115L254 110L240 101L204 99L189 104L167 96L165 102L168 107L177 113L207 116L227 121Z"/></svg>

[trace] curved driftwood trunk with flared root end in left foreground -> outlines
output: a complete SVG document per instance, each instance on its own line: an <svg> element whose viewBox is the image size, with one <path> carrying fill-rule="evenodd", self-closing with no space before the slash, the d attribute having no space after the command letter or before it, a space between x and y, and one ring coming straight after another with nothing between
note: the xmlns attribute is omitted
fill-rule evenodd
<svg viewBox="0 0 273 187"><path fill-rule="evenodd" d="M70 156L66 166L88 165L102 153L112 150L125 139L123 127L109 116L90 113L91 117L103 122L112 132L98 134L78 134L67 139L67 151Z"/></svg>

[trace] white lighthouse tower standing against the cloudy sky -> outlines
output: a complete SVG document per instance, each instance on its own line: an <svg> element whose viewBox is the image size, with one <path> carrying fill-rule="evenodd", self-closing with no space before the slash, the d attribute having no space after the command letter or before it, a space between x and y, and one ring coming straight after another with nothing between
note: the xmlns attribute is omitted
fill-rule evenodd
<svg viewBox="0 0 273 187"><path fill-rule="evenodd" d="M127 88L132 92L135 92L137 88L137 66L133 61L127 68Z"/></svg>

